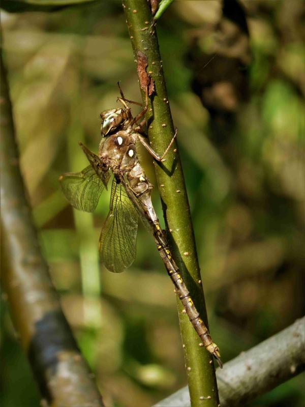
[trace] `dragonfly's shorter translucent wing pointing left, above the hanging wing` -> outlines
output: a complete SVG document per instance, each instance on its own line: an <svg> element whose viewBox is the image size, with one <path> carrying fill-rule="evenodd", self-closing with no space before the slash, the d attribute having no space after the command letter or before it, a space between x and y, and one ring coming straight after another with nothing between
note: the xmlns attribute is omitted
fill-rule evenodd
<svg viewBox="0 0 305 407"><path fill-rule="evenodd" d="M96 170L88 165L80 172L67 172L59 181L66 198L74 208L93 212L109 178L109 171L101 172L99 177Z"/></svg>

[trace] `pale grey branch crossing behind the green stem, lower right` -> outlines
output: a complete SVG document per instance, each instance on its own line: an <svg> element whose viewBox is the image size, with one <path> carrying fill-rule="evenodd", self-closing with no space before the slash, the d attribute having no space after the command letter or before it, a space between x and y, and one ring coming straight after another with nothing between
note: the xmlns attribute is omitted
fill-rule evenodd
<svg viewBox="0 0 305 407"><path fill-rule="evenodd" d="M216 372L221 407L245 405L305 370L305 316ZM190 406L188 387L154 407Z"/></svg>

